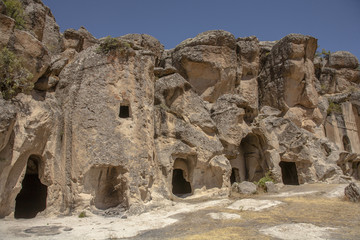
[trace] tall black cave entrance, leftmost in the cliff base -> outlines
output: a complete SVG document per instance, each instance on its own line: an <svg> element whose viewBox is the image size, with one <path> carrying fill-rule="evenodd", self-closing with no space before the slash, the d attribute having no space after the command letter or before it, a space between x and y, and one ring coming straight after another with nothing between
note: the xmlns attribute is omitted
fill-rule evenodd
<svg viewBox="0 0 360 240"><path fill-rule="evenodd" d="M47 186L39 179L40 158L30 156L22 188L15 201L15 218L34 218L46 208Z"/></svg>

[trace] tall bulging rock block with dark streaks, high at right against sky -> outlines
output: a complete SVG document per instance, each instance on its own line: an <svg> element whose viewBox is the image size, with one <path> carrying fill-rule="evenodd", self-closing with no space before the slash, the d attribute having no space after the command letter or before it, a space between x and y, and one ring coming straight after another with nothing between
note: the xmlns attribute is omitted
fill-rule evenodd
<svg viewBox="0 0 360 240"><path fill-rule="evenodd" d="M271 49L258 78L260 106L276 107L283 112L296 105L315 108L315 70L312 63L317 40L290 34Z"/></svg>

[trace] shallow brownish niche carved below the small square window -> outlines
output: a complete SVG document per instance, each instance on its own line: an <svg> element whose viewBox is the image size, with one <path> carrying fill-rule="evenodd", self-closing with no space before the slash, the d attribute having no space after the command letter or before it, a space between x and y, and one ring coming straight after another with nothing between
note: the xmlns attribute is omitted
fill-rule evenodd
<svg viewBox="0 0 360 240"><path fill-rule="evenodd" d="M127 208L126 182L121 178L125 171L117 166L93 166L85 175L85 191L95 192L94 205L108 209L122 205Z"/></svg>

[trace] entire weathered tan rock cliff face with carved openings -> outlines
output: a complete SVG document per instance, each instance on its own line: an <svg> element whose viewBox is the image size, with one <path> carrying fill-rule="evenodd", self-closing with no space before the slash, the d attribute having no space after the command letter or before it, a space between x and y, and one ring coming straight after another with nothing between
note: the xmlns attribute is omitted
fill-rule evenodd
<svg viewBox="0 0 360 240"><path fill-rule="evenodd" d="M41 1L22 2L26 30L0 1L0 47L25 59L34 82L0 99L0 217L136 213L208 189L226 195L268 172L284 184L360 179L351 53L320 58L311 36L261 42L221 30L171 50L129 34L102 52L106 39L61 34Z"/></svg>

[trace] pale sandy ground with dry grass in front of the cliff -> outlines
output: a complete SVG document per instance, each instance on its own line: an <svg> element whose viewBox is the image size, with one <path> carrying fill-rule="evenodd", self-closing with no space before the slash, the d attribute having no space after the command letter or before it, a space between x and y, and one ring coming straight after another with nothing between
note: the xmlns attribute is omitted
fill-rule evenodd
<svg viewBox="0 0 360 240"><path fill-rule="evenodd" d="M358 183L359 184L359 183ZM0 239L360 239L360 203L346 185L285 186L277 194L192 196L137 216L0 220Z"/></svg>

